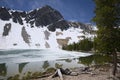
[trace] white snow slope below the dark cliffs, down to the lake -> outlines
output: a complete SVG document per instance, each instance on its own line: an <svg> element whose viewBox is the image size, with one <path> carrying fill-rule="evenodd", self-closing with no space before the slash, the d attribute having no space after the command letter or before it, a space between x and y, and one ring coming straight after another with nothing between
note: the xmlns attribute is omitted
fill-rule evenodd
<svg viewBox="0 0 120 80"><path fill-rule="evenodd" d="M4 26L8 23L11 24L11 29L7 36L3 36ZM83 37L93 36L83 33L83 30L80 28L71 27L63 31L56 29L56 31L51 32L47 26L31 28L30 24L27 24L24 19L23 23L23 25L14 23L12 19L9 21L0 20L0 49L58 49L64 44L71 44L80 41ZM30 43L26 43L23 39L23 27L25 27L26 33L30 36L28 38Z"/></svg>

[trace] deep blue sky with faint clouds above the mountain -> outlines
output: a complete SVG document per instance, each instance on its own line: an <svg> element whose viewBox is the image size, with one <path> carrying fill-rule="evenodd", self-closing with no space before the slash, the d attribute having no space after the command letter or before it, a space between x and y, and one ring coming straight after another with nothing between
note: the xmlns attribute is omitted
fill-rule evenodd
<svg viewBox="0 0 120 80"><path fill-rule="evenodd" d="M66 20L91 23L94 17L93 0L0 0L0 6L15 10L30 11L50 5L58 10Z"/></svg>

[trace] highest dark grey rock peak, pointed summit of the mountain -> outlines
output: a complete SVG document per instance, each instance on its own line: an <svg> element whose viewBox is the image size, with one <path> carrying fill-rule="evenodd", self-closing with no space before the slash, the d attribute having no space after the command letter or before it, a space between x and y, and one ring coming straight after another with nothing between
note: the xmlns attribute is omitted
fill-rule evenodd
<svg viewBox="0 0 120 80"><path fill-rule="evenodd" d="M34 19L33 23L39 27L55 23L60 19L63 19L63 16L57 10L46 5L40 9L35 9L31 12L28 12L25 20L30 23L32 19Z"/></svg>

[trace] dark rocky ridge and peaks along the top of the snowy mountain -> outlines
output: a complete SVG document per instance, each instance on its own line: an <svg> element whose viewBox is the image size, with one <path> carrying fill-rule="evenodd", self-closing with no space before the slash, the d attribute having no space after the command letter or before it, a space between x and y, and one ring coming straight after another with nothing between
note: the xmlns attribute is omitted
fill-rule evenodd
<svg viewBox="0 0 120 80"><path fill-rule="evenodd" d="M14 23L19 23L20 25L27 23L30 24L31 28L46 26L50 31L55 31L56 28L66 30L71 26L75 28L84 26L82 28L86 28L82 23L66 21L59 11L49 5L29 12L0 7L0 19L7 21L12 19Z"/></svg>

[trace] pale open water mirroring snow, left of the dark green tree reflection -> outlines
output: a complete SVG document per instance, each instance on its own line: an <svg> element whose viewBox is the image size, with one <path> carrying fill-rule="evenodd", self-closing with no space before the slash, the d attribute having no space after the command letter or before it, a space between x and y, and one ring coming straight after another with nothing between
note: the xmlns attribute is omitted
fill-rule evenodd
<svg viewBox="0 0 120 80"><path fill-rule="evenodd" d="M39 62L27 62L27 63L6 63L8 68L6 69L5 63L0 65L0 79L6 80L26 78L30 75L32 77L42 75L41 73L54 72L57 68L74 68L82 67L84 65L78 64L78 59L63 59L63 60L51 60L51 61L39 61ZM3 72L5 75L3 75ZM30 73L30 74L29 74ZM19 75L19 76L18 76ZM4 77L3 77L4 76ZM1 78L2 77L2 78Z"/></svg>

